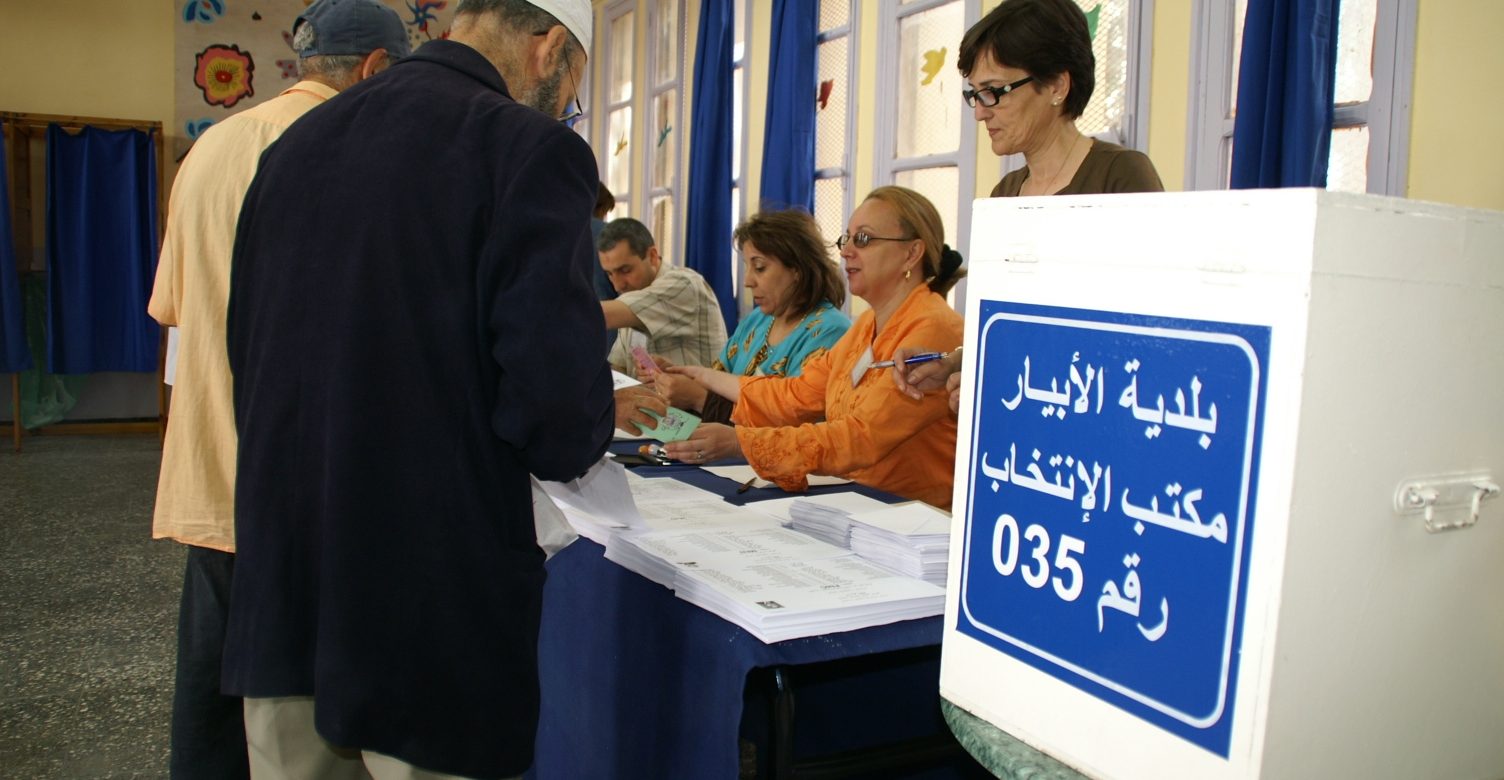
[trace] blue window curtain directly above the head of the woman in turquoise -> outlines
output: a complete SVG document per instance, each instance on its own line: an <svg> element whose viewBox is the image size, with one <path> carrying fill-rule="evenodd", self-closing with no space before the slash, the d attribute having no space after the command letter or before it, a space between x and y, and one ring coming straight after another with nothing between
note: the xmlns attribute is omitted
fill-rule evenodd
<svg viewBox="0 0 1504 780"><path fill-rule="evenodd" d="M815 209L815 44L820 0L775 0L769 51L764 209Z"/></svg>

